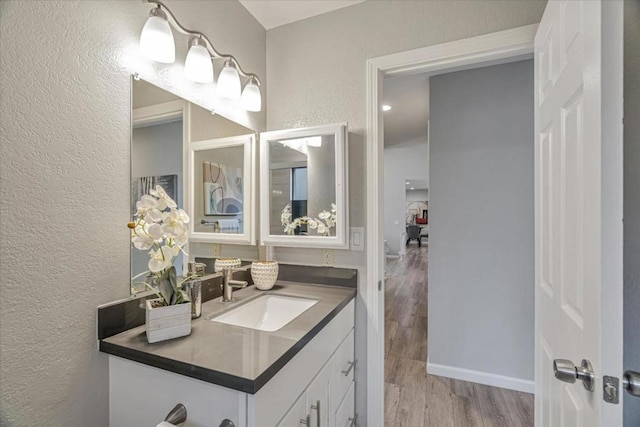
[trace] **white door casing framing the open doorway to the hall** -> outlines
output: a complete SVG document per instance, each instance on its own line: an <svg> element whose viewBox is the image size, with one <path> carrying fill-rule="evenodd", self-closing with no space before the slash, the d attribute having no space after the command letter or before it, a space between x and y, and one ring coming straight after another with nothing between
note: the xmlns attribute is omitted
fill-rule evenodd
<svg viewBox="0 0 640 427"><path fill-rule="evenodd" d="M459 71L530 58L538 24L437 44L367 60L367 268L360 293L367 311L367 425L384 424L384 139L385 76ZM426 370L426 362L425 362Z"/></svg>

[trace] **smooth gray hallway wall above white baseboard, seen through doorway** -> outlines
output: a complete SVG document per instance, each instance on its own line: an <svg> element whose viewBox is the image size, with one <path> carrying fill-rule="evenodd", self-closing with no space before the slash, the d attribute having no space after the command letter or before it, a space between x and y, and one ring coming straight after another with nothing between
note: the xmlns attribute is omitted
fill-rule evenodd
<svg viewBox="0 0 640 427"><path fill-rule="evenodd" d="M533 61L430 83L429 363L533 381Z"/></svg>

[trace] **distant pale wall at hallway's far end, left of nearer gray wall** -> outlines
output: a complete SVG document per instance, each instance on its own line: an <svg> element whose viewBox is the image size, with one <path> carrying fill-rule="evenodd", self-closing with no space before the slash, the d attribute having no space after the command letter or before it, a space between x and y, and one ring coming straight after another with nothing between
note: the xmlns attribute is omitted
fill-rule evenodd
<svg viewBox="0 0 640 427"><path fill-rule="evenodd" d="M384 239L389 255L397 255L400 245L404 244L400 241L400 235L405 231L407 179L429 179L427 141L384 150Z"/></svg>

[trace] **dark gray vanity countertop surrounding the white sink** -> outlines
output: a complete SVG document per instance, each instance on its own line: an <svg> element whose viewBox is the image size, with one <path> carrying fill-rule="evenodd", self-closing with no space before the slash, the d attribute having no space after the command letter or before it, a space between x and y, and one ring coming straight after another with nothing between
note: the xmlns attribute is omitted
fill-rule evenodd
<svg viewBox="0 0 640 427"><path fill-rule="evenodd" d="M211 319L265 294L290 295L318 303L274 332L213 322ZM191 323L191 335L149 344L138 326L100 341L100 350L254 394L289 362L356 295L353 288L278 281L270 291L251 286L202 305L202 316Z"/></svg>

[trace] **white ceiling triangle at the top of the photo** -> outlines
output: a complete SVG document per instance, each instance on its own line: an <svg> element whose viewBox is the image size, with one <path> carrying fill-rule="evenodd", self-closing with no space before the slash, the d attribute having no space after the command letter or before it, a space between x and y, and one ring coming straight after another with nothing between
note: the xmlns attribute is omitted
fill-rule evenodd
<svg viewBox="0 0 640 427"><path fill-rule="evenodd" d="M363 1L365 0L240 0L240 3L265 29L270 30Z"/></svg>

